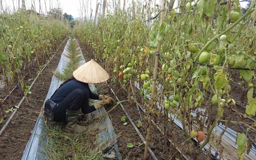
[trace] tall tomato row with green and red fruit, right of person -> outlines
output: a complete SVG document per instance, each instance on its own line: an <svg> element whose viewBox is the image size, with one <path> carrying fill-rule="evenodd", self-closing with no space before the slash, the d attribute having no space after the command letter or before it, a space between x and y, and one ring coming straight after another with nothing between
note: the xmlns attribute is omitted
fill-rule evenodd
<svg viewBox="0 0 256 160"><path fill-rule="evenodd" d="M151 21L146 13L155 8L143 8L141 4L125 11L116 8L114 13L99 16L96 25L89 21L74 31L81 43L93 48L95 58L105 64L108 72L116 75L111 81L119 81L128 91L131 91L128 82L138 81L141 93L143 90L152 93L154 100L144 97L147 112L161 112L155 109L155 103L164 103L164 112L171 112L170 106L178 111L183 128L188 128L188 132L184 129L187 138L195 131L207 134L199 149L210 141L225 106L235 103L229 94L232 90L229 82L236 81L231 70L238 70L240 80L249 88L246 114L254 116L256 112L253 96L256 44L251 24L255 3L243 15L239 1L215 4L211 0L208 4L189 2L177 13L165 10L163 1L161 11L158 8L161 14ZM134 10L136 17L131 17ZM156 84L162 87L155 88ZM210 103L217 106L217 111L210 127L204 128L199 125L201 122L196 122L197 127L193 128L192 118L187 115L207 104L207 91L211 91ZM237 137L240 147L237 155L243 158L248 145L246 135L239 133Z"/></svg>

